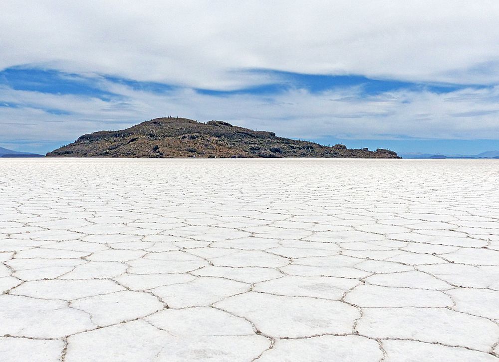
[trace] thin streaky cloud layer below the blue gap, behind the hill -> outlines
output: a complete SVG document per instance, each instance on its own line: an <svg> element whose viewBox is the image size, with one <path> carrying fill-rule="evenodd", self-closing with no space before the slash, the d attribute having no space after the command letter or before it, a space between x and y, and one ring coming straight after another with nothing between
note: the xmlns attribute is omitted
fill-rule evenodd
<svg viewBox="0 0 499 362"><path fill-rule="evenodd" d="M47 140L73 140L162 116L226 120L305 139L499 139L499 87L446 93L401 88L366 95L362 86L348 86L220 96L190 88L142 90L104 78L93 82L94 89L111 96L0 88L0 99L9 106L0 107L0 141L35 140L40 134Z"/></svg>

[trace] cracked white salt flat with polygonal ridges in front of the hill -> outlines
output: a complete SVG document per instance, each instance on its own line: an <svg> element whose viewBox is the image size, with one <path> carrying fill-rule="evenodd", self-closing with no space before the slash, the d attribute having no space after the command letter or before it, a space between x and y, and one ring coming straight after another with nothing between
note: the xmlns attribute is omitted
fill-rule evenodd
<svg viewBox="0 0 499 362"><path fill-rule="evenodd" d="M0 160L2 361L499 361L499 161Z"/></svg>

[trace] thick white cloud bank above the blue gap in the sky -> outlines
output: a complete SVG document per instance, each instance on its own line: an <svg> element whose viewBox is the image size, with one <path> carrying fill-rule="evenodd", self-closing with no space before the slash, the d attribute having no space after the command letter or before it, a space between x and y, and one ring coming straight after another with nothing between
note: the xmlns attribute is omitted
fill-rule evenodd
<svg viewBox="0 0 499 362"><path fill-rule="evenodd" d="M45 65L188 87L242 69L499 82L497 0L2 0L0 69Z"/></svg>

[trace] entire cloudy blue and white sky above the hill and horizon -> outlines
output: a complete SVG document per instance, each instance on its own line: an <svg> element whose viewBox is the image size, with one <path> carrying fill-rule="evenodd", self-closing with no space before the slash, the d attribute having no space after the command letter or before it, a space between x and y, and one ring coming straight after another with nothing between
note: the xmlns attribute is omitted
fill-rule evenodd
<svg viewBox="0 0 499 362"><path fill-rule="evenodd" d="M499 149L499 1L0 1L0 147L157 117L279 136Z"/></svg>

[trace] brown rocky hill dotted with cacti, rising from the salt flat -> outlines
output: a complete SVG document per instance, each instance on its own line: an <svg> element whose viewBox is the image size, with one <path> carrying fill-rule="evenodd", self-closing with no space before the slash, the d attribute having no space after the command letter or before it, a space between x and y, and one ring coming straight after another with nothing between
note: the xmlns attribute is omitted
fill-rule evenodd
<svg viewBox="0 0 499 362"><path fill-rule="evenodd" d="M275 136L227 122L157 118L117 131L85 134L47 157L352 157L400 158L393 151L348 149Z"/></svg>

